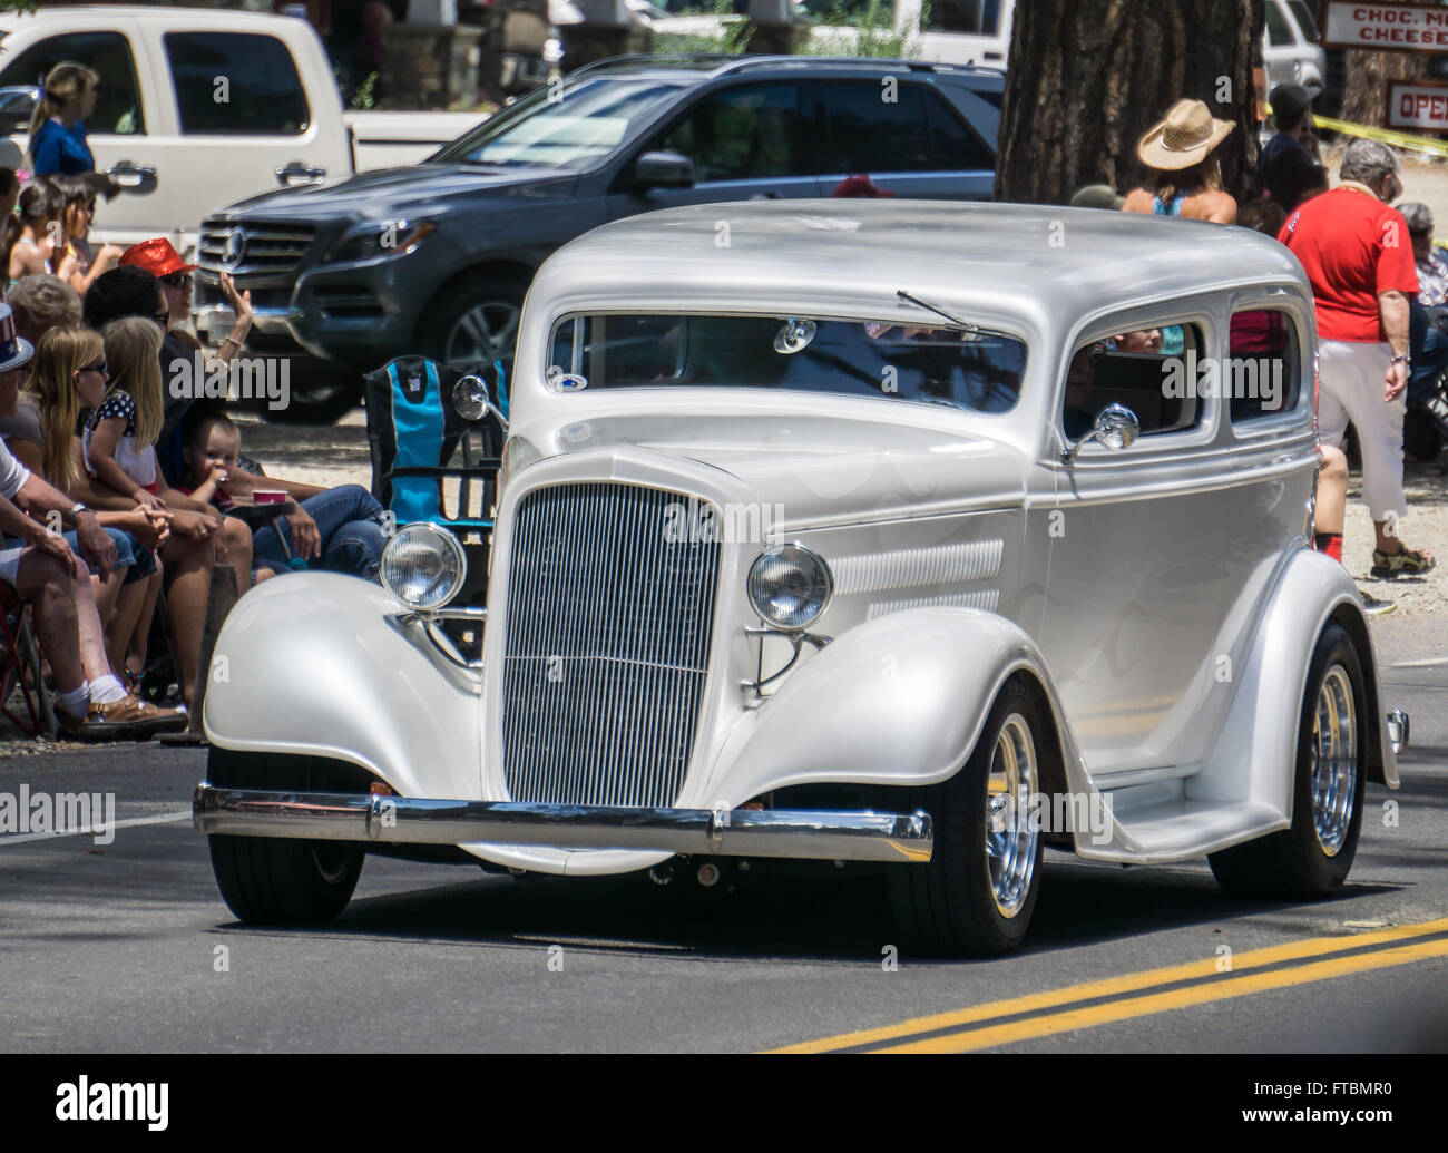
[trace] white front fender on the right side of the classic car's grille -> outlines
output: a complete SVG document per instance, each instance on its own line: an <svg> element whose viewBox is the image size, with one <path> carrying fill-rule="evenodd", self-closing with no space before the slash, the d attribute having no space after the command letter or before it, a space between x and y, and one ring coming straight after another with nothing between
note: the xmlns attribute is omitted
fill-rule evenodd
<svg viewBox="0 0 1448 1153"><path fill-rule="evenodd" d="M740 804L786 785L944 781L1018 671L1045 692L1070 773L1079 756L1025 632L976 608L915 608L851 629L789 674L725 743L708 795Z"/></svg>

